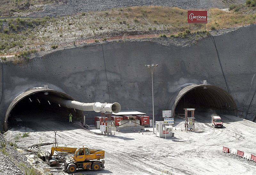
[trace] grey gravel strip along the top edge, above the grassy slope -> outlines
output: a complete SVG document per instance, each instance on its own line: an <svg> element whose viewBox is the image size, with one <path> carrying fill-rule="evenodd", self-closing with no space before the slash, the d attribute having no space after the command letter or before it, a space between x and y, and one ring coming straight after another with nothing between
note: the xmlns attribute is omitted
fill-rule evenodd
<svg viewBox="0 0 256 175"><path fill-rule="evenodd" d="M182 9L210 9L210 8L228 8L229 4L245 3L245 0L66 0L48 5L42 5L43 11L19 14L21 16L66 16L81 12L101 11L112 8L130 7L130 6L148 6L161 5L178 7ZM38 5L30 8L38 8Z"/></svg>

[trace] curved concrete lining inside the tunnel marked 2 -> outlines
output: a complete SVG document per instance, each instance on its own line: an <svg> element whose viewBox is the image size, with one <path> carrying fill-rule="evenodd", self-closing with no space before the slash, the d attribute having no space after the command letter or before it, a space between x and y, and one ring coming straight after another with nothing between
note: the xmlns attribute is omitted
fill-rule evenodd
<svg viewBox="0 0 256 175"><path fill-rule="evenodd" d="M203 87L206 87L207 89L203 89ZM185 87L183 86L182 88L180 88L180 90L176 91L174 96L169 101L169 104L172 105L170 108L172 110L173 116L175 115L175 110L180 100L184 97L184 95L188 94L192 90L195 90L194 93L196 94L196 96L199 97L197 98L199 99L199 103L205 104L204 107L216 108L222 111L229 111L230 114L237 116L236 102L233 97L228 94L227 91L223 90L218 86L204 84L190 84Z"/></svg>

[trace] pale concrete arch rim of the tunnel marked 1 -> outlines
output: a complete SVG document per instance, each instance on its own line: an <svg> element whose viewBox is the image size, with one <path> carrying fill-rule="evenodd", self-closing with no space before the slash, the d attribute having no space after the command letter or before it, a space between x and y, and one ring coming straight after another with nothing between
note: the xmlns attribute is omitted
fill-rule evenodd
<svg viewBox="0 0 256 175"><path fill-rule="evenodd" d="M5 118L4 121L6 121L6 123L4 123L4 131L7 131L7 120L8 117L10 115L10 112L12 111L12 109L15 107L16 104L18 104L22 99L28 97L29 95L38 93L38 92L50 92L53 95L59 96L63 99L67 99L67 100L75 100L73 97L69 96L68 94L61 92L61 91L57 91L57 90L53 90L53 89L44 89L44 87L34 87L34 88L30 88L27 91L22 92L20 95L18 95L14 100L12 100L12 102L10 103L9 107L7 108L7 111L5 113ZM83 117L83 111L81 110L77 110L78 115L81 115L81 117Z"/></svg>

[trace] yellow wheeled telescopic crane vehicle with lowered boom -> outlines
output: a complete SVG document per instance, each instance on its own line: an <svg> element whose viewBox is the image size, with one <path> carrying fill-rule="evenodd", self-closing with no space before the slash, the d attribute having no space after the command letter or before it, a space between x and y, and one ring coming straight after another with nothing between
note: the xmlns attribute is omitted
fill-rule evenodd
<svg viewBox="0 0 256 175"><path fill-rule="evenodd" d="M66 162L66 159L61 156L53 156L54 151L74 153L74 155L69 162ZM51 153L45 155L45 162L50 166L62 163L61 167L63 171L68 171L68 173L75 173L77 169L91 169L93 171L99 171L101 168L105 168L105 160L100 160L104 158L105 151L100 149L89 149L86 147L52 147Z"/></svg>

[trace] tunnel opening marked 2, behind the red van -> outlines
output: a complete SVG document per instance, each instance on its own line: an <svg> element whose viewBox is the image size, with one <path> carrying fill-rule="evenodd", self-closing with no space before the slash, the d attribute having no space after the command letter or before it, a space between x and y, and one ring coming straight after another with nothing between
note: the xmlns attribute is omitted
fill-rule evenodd
<svg viewBox="0 0 256 175"><path fill-rule="evenodd" d="M182 88L173 103L174 114L184 114L184 108L196 108L196 111L237 116L236 102L231 95L220 87L213 85L189 85Z"/></svg>

